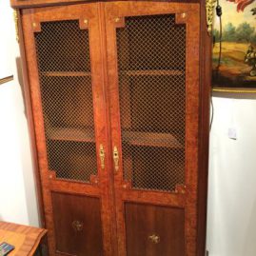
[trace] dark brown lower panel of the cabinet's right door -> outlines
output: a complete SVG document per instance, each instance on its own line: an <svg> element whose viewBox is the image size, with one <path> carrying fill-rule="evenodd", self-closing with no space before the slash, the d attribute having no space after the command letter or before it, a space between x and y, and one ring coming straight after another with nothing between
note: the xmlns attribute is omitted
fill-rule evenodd
<svg viewBox="0 0 256 256"><path fill-rule="evenodd" d="M184 256L184 209L126 203L128 256Z"/></svg>

